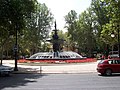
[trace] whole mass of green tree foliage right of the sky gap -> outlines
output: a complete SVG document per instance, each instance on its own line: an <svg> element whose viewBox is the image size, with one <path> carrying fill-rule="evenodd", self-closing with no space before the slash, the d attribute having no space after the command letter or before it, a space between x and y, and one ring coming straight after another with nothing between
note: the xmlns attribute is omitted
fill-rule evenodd
<svg viewBox="0 0 120 90"><path fill-rule="evenodd" d="M92 0L90 8L81 13L79 18L73 12L65 16L66 27L71 43L77 42L80 51L99 52L104 51L108 44L117 44L120 0ZM111 37L112 33L115 34L114 38Z"/></svg>

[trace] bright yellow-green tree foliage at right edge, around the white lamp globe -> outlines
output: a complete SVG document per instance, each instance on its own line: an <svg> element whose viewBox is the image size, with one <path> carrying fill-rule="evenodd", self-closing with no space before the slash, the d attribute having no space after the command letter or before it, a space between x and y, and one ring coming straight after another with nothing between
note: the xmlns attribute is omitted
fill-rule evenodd
<svg viewBox="0 0 120 90"><path fill-rule="evenodd" d="M118 30L120 25L120 1L119 0L104 0L107 8L107 16L110 17L108 23L103 25L103 30L101 32L101 39L103 42L108 43L110 46L113 46L118 43ZM111 34L114 33L115 37L111 38Z"/></svg>

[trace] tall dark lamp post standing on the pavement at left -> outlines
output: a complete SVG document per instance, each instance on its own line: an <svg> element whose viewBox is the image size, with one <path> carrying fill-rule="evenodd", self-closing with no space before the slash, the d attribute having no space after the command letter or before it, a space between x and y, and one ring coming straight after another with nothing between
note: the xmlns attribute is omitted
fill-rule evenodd
<svg viewBox="0 0 120 90"><path fill-rule="evenodd" d="M18 44L17 44L17 28L15 28L15 47L14 47L14 51L15 51L15 67L14 67L14 71L18 71L18 67L17 67L17 51L18 51Z"/></svg>

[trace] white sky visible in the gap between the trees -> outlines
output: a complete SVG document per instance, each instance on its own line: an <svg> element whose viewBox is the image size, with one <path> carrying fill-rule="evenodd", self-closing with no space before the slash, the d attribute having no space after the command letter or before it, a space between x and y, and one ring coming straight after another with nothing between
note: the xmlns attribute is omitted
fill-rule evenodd
<svg viewBox="0 0 120 90"><path fill-rule="evenodd" d="M38 0L40 3L45 3L54 15L54 19L57 23L57 29L65 30L65 19L64 16L71 10L75 10L79 15L81 12L86 10L91 0Z"/></svg>

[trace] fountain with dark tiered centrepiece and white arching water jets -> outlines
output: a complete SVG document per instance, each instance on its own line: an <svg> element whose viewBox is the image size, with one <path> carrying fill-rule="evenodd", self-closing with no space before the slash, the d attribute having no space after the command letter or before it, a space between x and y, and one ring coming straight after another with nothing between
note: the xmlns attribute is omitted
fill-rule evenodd
<svg viewBox="0 0 120 90"><path fill-rule="evenodd" d="M73 51L62 51L60 44L63 43L64 40L59 39L56 29L56 22L55 22L55 30L51 40L47 40L52 43L53 45L53 52L38 52L27 60L80 60L83 59L81 55Z"/></svg>

